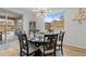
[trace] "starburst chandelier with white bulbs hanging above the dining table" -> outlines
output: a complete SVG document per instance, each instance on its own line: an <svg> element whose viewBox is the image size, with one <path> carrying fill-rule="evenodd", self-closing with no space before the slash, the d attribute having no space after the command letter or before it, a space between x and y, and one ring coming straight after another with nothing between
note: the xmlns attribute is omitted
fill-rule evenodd
<svg viewBox="0 0 86 64"><path fill-rule="evenodd" d="M50 13L51 10L48 10L48 9L46 9L46 8L37 8L37 9L34 10L34 12L36 13L37 17L39 17L39 16L42 17L42 16L45 16L47 13Z"/></svg>

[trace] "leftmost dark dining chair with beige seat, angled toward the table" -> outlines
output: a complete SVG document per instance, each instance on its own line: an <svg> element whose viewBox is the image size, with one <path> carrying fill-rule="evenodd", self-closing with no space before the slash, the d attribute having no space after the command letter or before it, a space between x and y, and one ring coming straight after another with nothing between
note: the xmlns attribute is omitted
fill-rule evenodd
<svg viewBox="0 0 86 64"><path fill-rule="evenodd" d="M19 34L19 41L20 41L20 55L21 56L28 56L34 55L36 48L29 46L29 41L27 41L26 34Z"/></svg>

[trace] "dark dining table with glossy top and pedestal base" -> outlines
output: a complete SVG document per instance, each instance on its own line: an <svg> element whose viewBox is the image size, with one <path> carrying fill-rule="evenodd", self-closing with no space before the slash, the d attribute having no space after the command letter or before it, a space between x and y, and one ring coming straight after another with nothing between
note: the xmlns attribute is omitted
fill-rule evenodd
<svg viewBox="0 0 86 64"><path fill-rule="evenodd" d="M48 40L45 37L34 37L28 38L28 42L34 44L38 50L35 52L35 55L44 55L45 48L50 43L50 40ZM41 49L44 49L44 53L41 52Z"/></svg>

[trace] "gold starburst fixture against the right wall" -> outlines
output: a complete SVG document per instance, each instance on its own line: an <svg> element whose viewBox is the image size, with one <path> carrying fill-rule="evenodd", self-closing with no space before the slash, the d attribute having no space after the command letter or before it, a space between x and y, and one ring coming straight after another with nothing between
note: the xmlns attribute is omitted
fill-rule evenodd
<svg viewBox="0 0 86 64"><path fill-rule="evenodd" d="M83 9L78 9L77 15L74 21L77 21L79 24L82 24L83 21L86 21L85 11Z"/></svg>

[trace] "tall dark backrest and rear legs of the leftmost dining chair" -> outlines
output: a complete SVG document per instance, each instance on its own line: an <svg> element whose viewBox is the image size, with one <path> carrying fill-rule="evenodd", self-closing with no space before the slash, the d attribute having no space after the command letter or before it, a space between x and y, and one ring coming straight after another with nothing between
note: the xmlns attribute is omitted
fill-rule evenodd
<svg viewBox="0 0 86 64"><path fill-rule="evenodd" d="M20 31L20 34L19 34L19 41L20 41L21 54L28 55L28 42L27 42L26 34L22 34Z"/></svg>

